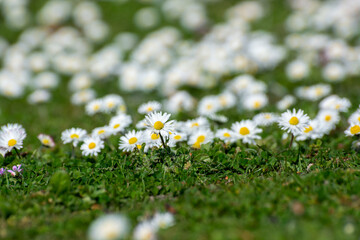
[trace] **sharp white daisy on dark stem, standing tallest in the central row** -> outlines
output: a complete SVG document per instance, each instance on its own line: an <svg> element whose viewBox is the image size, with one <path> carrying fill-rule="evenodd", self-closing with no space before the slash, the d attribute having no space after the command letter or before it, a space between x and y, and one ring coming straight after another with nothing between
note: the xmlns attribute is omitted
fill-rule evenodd
<svg viewBox="0 0 360 240"><path fill-rule="evenodd" d="M174 120L168 121L171 114L162 112L149 113L145 119L147 129L153 133L160 134L164 137L169 135L169 132L174 131Z"/></svg>

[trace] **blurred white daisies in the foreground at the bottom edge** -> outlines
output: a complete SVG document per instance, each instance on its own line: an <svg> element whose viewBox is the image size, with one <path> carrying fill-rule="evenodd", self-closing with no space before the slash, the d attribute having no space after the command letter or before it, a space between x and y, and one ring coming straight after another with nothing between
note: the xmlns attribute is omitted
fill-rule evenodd
<svg viewBox="0 0 360 240"><path fill-rule="evenodd" d="M172 227L174 215L170 212L157 212L150 219L140 222L133 230L134 240L155 240L157 232ZM96 219L89 227L88 239L113 240L128 239L130 222L122 214L107 214Z"/></svg>

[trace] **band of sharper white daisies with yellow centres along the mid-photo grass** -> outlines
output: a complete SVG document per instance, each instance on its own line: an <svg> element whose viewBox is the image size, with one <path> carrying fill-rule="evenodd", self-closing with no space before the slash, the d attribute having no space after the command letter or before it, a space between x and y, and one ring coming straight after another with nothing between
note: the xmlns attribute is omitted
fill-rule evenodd
<svg viewBox="0 0 360 240"><path fill-rule="evenodd" d="M101 110L104 107L108 109L107 104L104 104L103 100L97 101L99 106L96 108L107 112ZM116 109L116 106L123 104L123 101L117 101L117 104L112 106ZM226 124L228 119L217 112L211 112L187 121L170 120L171 114L161 112L162 105L159 102L150 101L139 106L138 112L146 116L137 123L132 122L130 115L118 111L106 126L97 127L89 134L81 128L67 129L62 133L61 139L64 144L71 143L74 147L81 143L80 149L84 156L97 156L104 149L105 140L113 135L120 137L118 148L125 152L173 148L181 142L198 149L204 144L213 143L215 139L220 139L226 144L241 141L244 144L256 145L256 141L262 138L262 127L272 124L278 124L286 132L285 137L286 134L291 134L296 141L305 141L330 134L340 122L341 113L347 112L350 105L348 99L331 95L319 103L320 110L313 119L303 110L293 109L281 115L261 112L252 119L232 123L230 128L215 128L215 122ZM359 134L360 110L351 115L349 123L351 126L345 134Z"/></svg>

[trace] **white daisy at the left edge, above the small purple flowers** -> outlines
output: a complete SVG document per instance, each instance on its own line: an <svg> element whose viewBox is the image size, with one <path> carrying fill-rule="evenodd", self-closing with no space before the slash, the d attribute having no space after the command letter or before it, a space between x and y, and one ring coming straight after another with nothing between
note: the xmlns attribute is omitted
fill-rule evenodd
<svg viewBox="0 0 360 240"><path fill-rule="evenodd" d="M6 128L4 128L6 129ZM9 129L9 128L8 128ZM22 128L10 128L7 131L0 131L0 148L2 152L10 152L12 149L21 149L23 141L26 138L26 132Z"/></svg>

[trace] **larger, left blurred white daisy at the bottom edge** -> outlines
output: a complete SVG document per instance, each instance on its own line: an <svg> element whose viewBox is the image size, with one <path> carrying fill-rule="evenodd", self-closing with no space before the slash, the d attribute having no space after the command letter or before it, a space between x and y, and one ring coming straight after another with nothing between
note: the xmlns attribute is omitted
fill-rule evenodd
<svg viewBox="0 0 360 240"><path fill-rule="evenodd" d="M108 214L91 223L88 231L90 240L124 239L130 230L129 220L120 214Z"/></svg>

